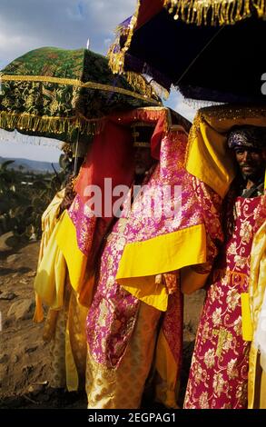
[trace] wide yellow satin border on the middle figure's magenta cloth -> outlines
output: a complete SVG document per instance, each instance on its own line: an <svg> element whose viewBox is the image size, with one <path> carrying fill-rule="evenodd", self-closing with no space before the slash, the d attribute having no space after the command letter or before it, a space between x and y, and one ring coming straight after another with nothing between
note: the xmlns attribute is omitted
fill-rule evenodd
<svg viewBox="0 0 266 427"><path fill-rule="evenodd" d="M139 300L165 312L168 294L163 283L155 284L155 275L205 261L205 228L198 224L150 240L128 243L123 250L116 280Z"/></svg>

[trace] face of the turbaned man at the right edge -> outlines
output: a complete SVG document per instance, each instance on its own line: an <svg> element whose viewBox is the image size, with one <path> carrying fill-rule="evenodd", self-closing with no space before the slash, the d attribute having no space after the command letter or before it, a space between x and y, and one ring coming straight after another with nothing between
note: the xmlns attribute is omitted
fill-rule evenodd
<svg viewBox="0 0 266 427"><path fill-rule="evenodd" d="M266 149L238 148L235 151L236 161L241 168L241 174L246 179L256 180L265 170Z"/></svg>

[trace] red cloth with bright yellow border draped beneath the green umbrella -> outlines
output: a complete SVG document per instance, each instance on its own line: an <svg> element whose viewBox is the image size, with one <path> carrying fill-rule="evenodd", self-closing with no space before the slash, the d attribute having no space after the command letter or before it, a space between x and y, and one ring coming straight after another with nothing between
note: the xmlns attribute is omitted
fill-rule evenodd
<svg viewBox="0 0 266 427"><path fill-rule="evenodd" d="M97 185L101 191L100 204L105 200L104 178L112 179L113 186L130 185L133 180L130 130L106 120L103 132L94 137L93 148L76 180L74 203L64 215L56 242L64 253L70 283L79 295L79 301L89 306L94 289L94 262L102 238L113 219L111 211L92 214L87 202L86 188ZM112 159L112 161L111 161ZM112 197L112 205L115 198ZM97 208L97 206L96 206Z"/></svg>

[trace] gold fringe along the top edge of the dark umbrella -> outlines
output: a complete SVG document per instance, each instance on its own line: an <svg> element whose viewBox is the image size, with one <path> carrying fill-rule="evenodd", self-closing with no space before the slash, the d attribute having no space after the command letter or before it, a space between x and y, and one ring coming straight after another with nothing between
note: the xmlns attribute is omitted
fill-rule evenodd
<svg viewBox="0 0 266 427"><path fill-rule="evenodd" d="M251 16L251 6L260 18L266 18L265 0L164 0L163 5L173 19L187 24L233 25Z"/></svg>

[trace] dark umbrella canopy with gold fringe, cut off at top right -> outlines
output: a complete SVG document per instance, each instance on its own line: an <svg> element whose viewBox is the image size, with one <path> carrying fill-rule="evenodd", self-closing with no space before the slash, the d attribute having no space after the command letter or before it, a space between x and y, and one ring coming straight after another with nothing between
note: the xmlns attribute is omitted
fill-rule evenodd
<svg viewBox="0 0 266 427"><path fill-rule="evenodd" d="M251 13L244 7L251 3L256 4L143 0L110 48L113 72L148 74L167 91L173 84L193 99L265 102L266 21L259 16L265 17L266 9L261 3Z"/></svg>

